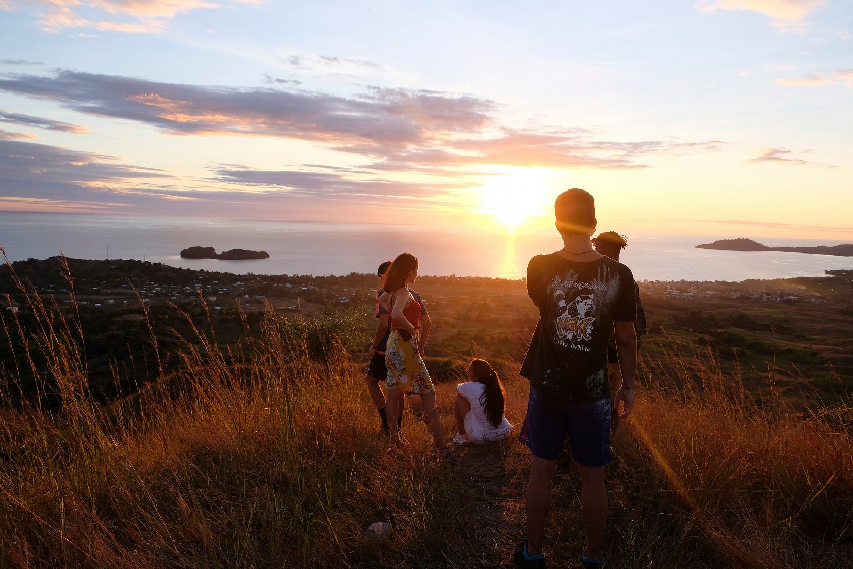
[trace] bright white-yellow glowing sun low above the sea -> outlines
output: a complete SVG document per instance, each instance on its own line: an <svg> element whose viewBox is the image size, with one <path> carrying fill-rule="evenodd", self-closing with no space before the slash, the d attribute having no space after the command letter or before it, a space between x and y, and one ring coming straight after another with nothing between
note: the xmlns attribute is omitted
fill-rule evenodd
<svg viewBox="0 0 853 569"><path fill-rule="evenodd" d="M559 182L548 168L502 168L494 176L480 178L479 212L509 230L548 213Z"/></svg>

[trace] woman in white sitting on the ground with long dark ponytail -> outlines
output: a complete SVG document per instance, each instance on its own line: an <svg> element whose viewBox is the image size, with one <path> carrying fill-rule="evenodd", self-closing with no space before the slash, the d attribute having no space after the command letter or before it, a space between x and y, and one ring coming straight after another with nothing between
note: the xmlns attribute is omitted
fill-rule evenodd
<svg viewBox="0 0 853 569"><path fill-rule="evenodd" d="M513 426L503 415L503 386L488 362L474 359L467 381L456 386L456 438L453 444L503 440Z"/></svg>

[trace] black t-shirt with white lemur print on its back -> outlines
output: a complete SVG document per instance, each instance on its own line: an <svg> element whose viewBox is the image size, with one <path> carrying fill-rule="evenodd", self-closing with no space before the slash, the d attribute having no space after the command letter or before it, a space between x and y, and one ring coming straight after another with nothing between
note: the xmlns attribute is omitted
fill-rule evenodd
<svg viewBox="0 0 853 569"><path fill-rule="evenodd" d="M610 397L607 340L613 322L636 317L634 276L601 257L570 261L558 253L527 265L527 293L539 322L521 367L538 391L577 403Z"/></svg>

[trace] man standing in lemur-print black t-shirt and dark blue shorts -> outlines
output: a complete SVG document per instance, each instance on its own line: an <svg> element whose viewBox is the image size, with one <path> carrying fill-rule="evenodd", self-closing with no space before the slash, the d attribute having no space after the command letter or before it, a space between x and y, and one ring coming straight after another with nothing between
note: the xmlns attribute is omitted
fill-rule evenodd
<svg viewBox="0 0 853 569"><path fill-rule="evenodd" d="M564 247L537 255L527 265L527 293L539 309L539 322L521 368L531 382L519 436L531 449L531 477L526 492L527 540L516 548L514 564L545 566L543 534L551 481L568 436L583 486L583 566L594 568L605 560L604 466L612 460L607 340L612 330L623 374L616 404L624 405L619 415L624 418L634 405L635 283L628 267L592 248L592 195L583 189L563 192L554 212Z"/></svg>

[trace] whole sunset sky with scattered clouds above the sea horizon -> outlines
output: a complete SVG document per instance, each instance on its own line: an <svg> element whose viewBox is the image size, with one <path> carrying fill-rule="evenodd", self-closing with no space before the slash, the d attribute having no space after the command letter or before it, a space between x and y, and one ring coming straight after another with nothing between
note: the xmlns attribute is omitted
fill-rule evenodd
<svg viewBox="0 0 853 569"><path fill-rule="evenodd" d="M853 1L0 0L0 210L853 240Z"/></svg>

